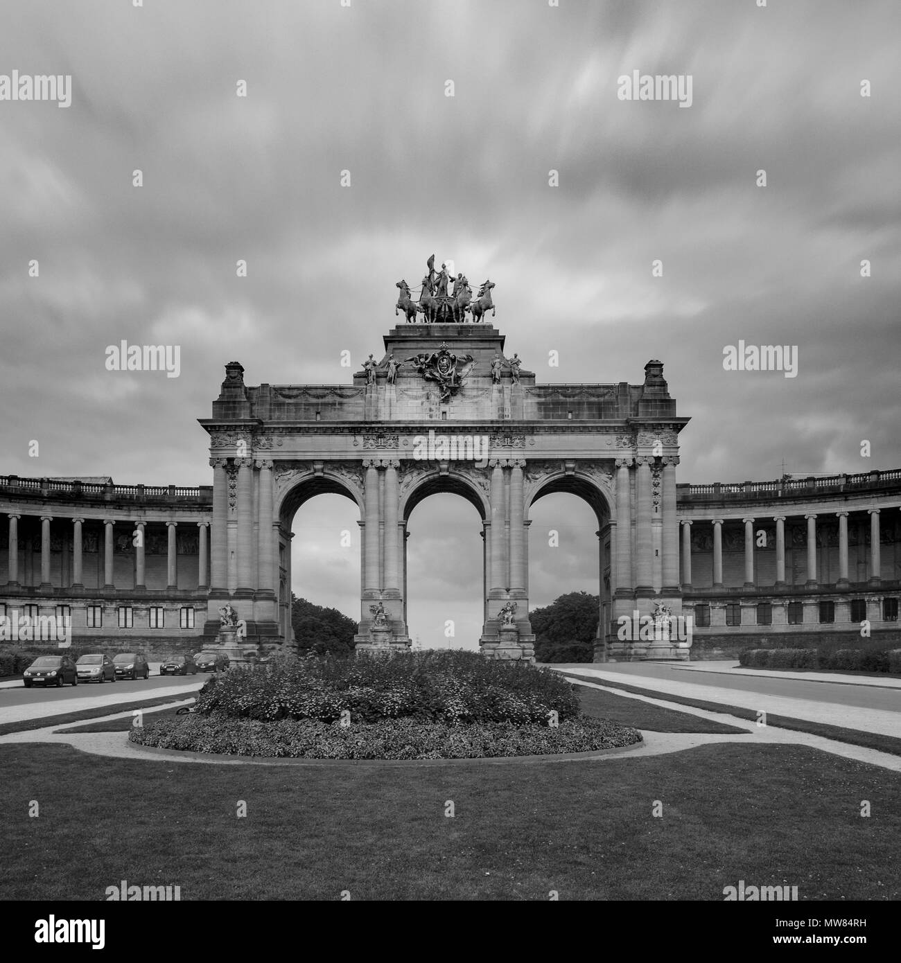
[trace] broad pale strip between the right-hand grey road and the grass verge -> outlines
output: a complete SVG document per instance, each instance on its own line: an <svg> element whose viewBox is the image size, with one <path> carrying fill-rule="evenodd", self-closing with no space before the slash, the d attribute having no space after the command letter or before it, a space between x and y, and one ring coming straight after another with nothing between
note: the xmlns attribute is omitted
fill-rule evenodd
<svg viewBox="0 0 901 963"><path fill-rule="evenodd" d="M718 702L727 706L740 706L755 713L765 712L771 716L788 716L804 719L808 722L822 722L827 725L841 726L845 729L858 729L862 732L879 733L901 739L901 698L899 698L899 712L887 712L881 709L865 709L860 706L845 706L836 702L817 702L812 699L799 699L783 695L772 695L766 692L749 692L746 690L729 689L724 681L719 686L699 686L690 681L676 681L658 679L645 675L630 675L627 671L610 671L596 666L600 663L549 665L559 672L578 672L598 682L616 682L624 686L650 690L662 696L680 695L683 698L695 699L699 702ZM621 665L618 663L618 665ZM709 671L709 670L708 670ZM779 673L782 675L782 673ZM689 672L686 679L691 678ZM743 677L747 678L747 675ZM835 682L835 679L830 679ZM860 683L857 683L860 685ZM679 712L687 712L687 707L677 706Z"/></svg>

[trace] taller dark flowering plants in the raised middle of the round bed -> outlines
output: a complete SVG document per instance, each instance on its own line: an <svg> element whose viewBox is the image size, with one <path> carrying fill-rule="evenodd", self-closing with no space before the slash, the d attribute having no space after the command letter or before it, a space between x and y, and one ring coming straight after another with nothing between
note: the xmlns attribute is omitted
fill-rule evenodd
<svg viewBox="0 0 901 963"><path fill-rule="evenodd" d="M579 715L572 686L550 669L486 659L462 650L358 653L353 659L309 656L211 676L200 690L201 716L331 723L413 718L547 724Z"/></svg>

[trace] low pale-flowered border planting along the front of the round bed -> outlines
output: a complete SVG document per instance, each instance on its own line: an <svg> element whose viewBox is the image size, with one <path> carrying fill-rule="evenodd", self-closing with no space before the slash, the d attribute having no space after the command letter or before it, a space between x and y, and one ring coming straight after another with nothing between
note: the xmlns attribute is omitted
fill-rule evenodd
<svg viewBox="0 0 901 963"><path fill-rule="evenodd" d="M410 717L368 725L282 718L178 716L133 728L131 742L162 749L300 759L482 759L588 752L641 741L636 729L581 716L557 727L489 722L456 725Z"/></svg>

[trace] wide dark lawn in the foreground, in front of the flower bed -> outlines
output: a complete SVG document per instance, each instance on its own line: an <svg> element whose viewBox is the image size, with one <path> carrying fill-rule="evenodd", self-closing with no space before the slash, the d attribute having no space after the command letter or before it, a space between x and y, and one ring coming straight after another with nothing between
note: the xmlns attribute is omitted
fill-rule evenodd
<svg viewBox="0 0 901 963"><path fill-rule="evenodd" d="M901 898L901 774L806 746L280 768L29 744L0 746L0 768L2 899L103 899L121 879L182 899L722 900L741 879Z"/></svg>

